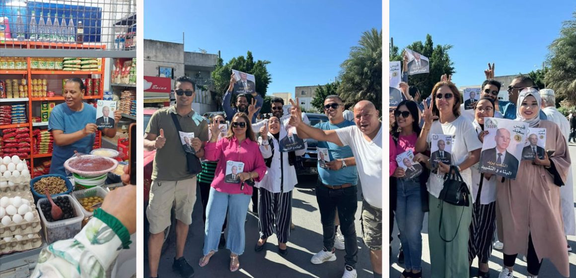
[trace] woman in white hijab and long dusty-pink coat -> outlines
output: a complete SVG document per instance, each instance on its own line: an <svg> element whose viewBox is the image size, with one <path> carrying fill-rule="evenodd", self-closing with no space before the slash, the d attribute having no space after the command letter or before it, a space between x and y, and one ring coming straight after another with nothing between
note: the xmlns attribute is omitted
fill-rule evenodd
<svg viewBox="0 0 576 278"><path fill-rule="evenodd" d="M544 153L544 159L522 160L516 180L497 178L498 238L505 243L501 278L513 277L518 253L526 254L528 277L537 277L543 258L549 258L562 276L570 275L560 212L560 186L566 182L570 155L560 128L540 120L540 104L537 89L521 89L516 120L531 128L545 128L545 149L554 153Z"/></svg>

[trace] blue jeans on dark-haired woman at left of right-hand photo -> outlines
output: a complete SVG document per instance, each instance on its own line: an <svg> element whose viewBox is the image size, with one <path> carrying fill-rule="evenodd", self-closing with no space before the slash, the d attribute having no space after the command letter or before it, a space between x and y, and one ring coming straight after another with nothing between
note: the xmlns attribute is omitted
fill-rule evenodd
<svg viewBox="0 0 576 278"><path fill-rule="evenodd" d="M404 268L422 271L422 201L420 181L397 180L396 223L400 230L400 242L404 250Z"/></svg>

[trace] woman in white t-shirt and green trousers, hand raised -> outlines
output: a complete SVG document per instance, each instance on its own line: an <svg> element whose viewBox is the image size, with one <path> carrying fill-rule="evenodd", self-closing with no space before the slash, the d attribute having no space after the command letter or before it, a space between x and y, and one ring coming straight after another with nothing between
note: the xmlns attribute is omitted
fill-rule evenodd
<svg viewBox="0 0 576 278"><path fill-rule="evenodd" d="M432 135L452 135L451 165L460 170L468 187L472 184L469 167L480 160L482 143L474 127L460 116L460 92L452 82L438 82L432 89L431 107L425 105L424 126L416 142L416 151L430 149ZM468 277L468 227L472 220L472 201L459 207L438 199L444 187L444 174L450 165L438 162L427 182L429 196L429 246L431 277ZM444 204L443 204L444 203ZM439 225L442 223L442 230Z"/></svg>

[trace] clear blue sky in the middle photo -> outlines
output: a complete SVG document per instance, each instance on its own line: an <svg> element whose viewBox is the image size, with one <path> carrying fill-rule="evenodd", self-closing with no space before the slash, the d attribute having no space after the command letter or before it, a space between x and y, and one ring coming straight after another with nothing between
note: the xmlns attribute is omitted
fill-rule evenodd
<svg viewBox="0 0 576 278"><path fill-rule="evenodd" d="M185 51L221 51L225 63L252 51L271 62L268 94L334 81L362 32L382 29L373 0L169 2L144 1L145 39L181 42L185 32Z"/></svg>

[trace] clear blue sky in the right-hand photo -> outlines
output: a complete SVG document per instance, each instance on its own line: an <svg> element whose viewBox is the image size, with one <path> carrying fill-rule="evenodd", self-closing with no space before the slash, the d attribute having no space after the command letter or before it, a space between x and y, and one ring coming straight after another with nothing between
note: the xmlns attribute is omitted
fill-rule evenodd
<svg viewBox="0 0 576 278"><path fill-rule="evenodd" d="M429 33L434 45L453 45L457 86L480 85L488 62L496 63L497 76L541 68L548 45L576 10L574 0L390 2L394 44L403 48Z"/></svg>

